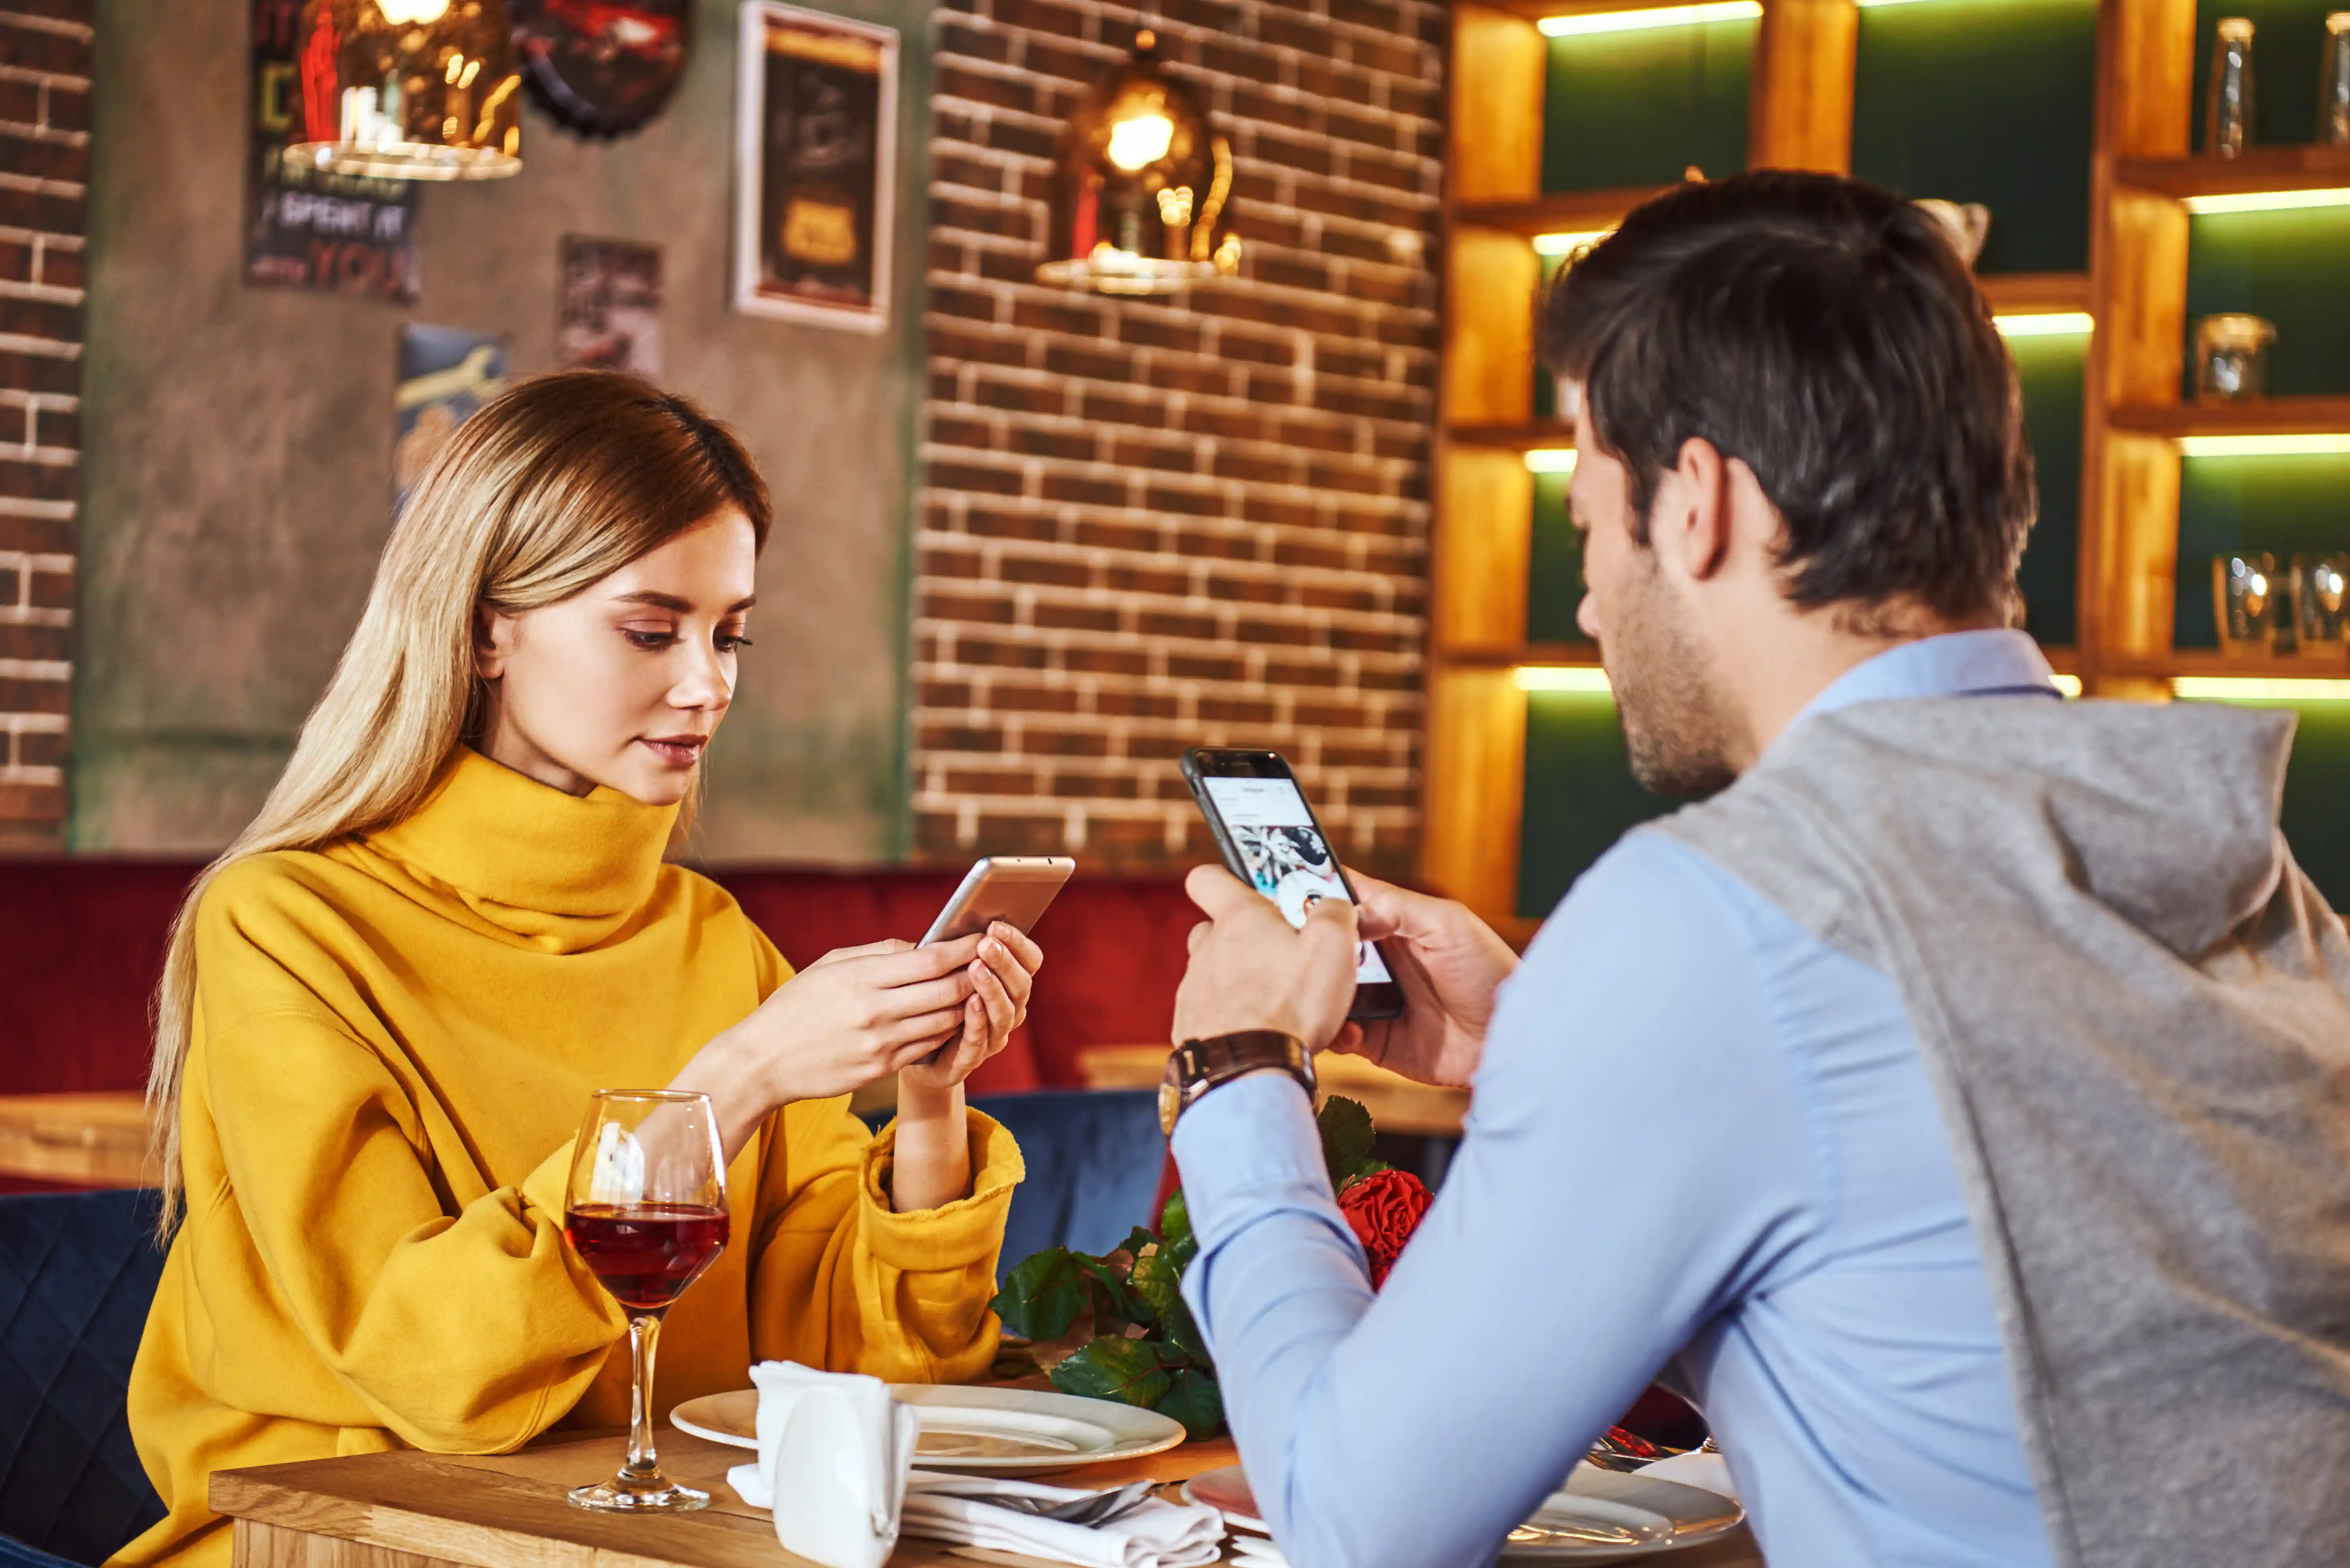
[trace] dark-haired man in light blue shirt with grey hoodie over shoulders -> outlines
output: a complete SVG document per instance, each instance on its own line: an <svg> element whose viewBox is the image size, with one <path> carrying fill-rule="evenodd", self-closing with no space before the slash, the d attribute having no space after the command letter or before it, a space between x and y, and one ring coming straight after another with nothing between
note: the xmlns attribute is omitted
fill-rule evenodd
<svg viewBox="0 0 2350 1568"><path fill-rule="evenodd" d="M1885 190L1683 186L1546 350L1633 769L1713 797L1523 966L1358 879L1368 1030L1351 910L1191 875L1184 1295L1285 1556L1490 1561L1678 1359L1774 1563L2350 1561L2350 940L2277 835L2291 717L2059 698L2014 367ZM1473 1077L1377 1302L1267 1032Z"/></svg>

